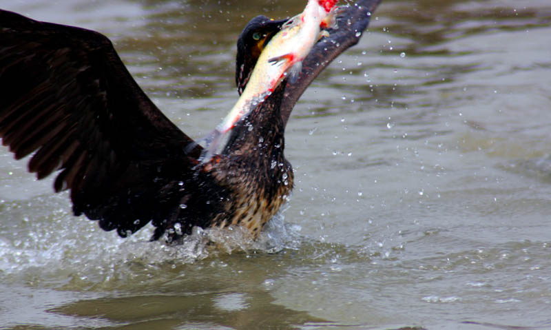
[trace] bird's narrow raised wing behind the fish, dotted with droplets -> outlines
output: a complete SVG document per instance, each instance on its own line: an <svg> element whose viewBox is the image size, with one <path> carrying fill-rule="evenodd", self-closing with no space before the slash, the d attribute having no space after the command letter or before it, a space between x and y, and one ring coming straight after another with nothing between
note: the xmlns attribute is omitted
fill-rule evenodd
<svg viewBox="0 0 551 330"><path fill-rule="evenodd" d="M281 104L281 116L287 124L295 103L315 77L324 70L335 57L351 48L362 37L371 19L371 13L382 0L358 0L342 8L337 17L337 28L329 29L329 37L314 45L310 54L302 62L300 79L287 83Z"/></svg>

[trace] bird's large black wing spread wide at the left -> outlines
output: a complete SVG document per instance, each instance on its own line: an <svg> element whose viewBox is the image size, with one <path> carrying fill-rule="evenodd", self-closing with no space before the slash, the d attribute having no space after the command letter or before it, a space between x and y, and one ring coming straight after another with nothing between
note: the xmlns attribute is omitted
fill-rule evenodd
<svg viewBox="0 0 551 330"><path fill-rule="evenodd" d="M61 170L54 189L71 190L74 213L121 236L168 216L144 201L168 203L155 200L178 180L167 173L191 169L200 154L200 146L186 154L191 138L144 94L107 37L3 10L0 137L17 159L36 151L28 167L38 178Z"/></svg>

